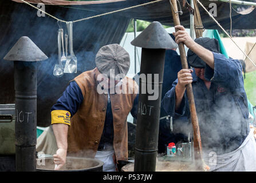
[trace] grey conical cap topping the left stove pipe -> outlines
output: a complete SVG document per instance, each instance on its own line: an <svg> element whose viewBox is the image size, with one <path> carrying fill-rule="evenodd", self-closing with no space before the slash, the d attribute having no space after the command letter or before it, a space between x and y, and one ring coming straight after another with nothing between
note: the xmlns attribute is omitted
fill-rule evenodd
<svg viewBox="0 0 256 183"><path fill-rule="evenodd" d="M29 37L23 36L19 38L18 42L15 43L3 59L7 61L35 62L43 61L48 57Z"/></svg>

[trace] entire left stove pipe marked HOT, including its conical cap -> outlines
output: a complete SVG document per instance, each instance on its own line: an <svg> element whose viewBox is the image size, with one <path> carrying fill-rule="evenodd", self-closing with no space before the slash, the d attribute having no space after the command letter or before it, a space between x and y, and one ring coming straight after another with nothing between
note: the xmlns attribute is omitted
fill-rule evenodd
<svg viewBox="0 0 256 183"><path fill-rule="evenodd" d="M36 171L37 61L46 55L21 37L4 59L14 61L16 171Z"/></svg>

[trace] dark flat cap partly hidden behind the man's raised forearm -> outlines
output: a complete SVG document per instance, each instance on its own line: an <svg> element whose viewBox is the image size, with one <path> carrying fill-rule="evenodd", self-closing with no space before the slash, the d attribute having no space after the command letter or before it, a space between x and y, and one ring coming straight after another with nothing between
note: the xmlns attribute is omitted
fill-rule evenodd
<svg viewBox="0 0 256 183"><path fill-rule="evenodd" d="M215 53L219 53L219 41L215 38L196 38L195 42L199 45L203 46L207 50L213 51ZM204 68L206 63L198 57L193 51L188 49L187 51L187 61L188 63L195 68Z"/></svg>

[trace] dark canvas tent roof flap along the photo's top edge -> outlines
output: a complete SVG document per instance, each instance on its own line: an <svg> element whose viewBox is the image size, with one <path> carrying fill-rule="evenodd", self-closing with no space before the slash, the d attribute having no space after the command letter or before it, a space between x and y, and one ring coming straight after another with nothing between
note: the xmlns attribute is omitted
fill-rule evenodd
<svg viewBox="0 0 256 183"><path fill-rule="evenodd" d="M9 0L10 1L10 0ZM22 2L20 0L12 0L15 2ZM105 1L64 1L64 0L26 0L31 3L44 3L45 5L56 5L55 9L59 8L73 8L80 11L92 11L96 14L107 13L113 10L123 9L125 7L135 6L142 3L150 2L149 0L105 0ZM152 0L151 0L152 1ZM180 4L185 1L179 0ZM189 2L189 1L188 1ZM223 3L218 1L208 1L201 0L202 4L208 9L211 3L217 5L216 8L216 19L225 29L230 29L230 6L229 3ZM202 23L205 29L219 29L219 27L212 21L212 19L206 14L206 12L199 7L200 15L202 18ZM190 27L190 13L187 7L182 6L183 14L180 16L181 24L189 28ZM151 5L136 7L135 9L129 9L115 13L121 17L136 18L144 21L159 21L163 25L173 26L172 15L170 9L170 1L163 0ZM256 29L256 19L250 18L256 16L256 10L254 7L249 7L248 9L238 13L237 11L232 11L232 22L233 29ZM89 16L85 16L89 17ZM82 18L85 18L82 17ZM60 17L61 18L61 17Z"/></svg>

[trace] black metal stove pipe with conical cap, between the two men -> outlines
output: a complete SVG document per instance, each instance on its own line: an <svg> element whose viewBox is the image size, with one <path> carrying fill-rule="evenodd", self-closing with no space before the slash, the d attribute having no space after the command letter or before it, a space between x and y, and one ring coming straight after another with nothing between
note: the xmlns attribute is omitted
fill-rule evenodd
<svg viewBox="0 0 256 183"><path fill-rule="evenodd" d="M166 49L174 49L177 45L159 22L152 22L131 44L142 47L140 76L145 75L139 82L134 171L153 172L156 169L164 58ZM158 75L156 81L155 74ZM158 97L150 99L156 93L152 94L148 88L155 87ZM145 94L143 89L147 89Z"/></svg>

